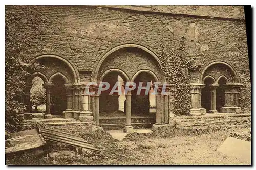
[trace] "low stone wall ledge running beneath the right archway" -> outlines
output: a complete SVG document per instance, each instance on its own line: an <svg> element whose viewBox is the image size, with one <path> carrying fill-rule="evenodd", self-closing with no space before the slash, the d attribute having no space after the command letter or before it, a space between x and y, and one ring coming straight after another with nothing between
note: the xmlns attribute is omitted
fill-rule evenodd
<svg viewBox="0 0 256 170"><path fill-rule="evenodd" d="M250 127L250 114L215 114L203 116L175 116L172 124L176 128L231 128Z"/></svg>

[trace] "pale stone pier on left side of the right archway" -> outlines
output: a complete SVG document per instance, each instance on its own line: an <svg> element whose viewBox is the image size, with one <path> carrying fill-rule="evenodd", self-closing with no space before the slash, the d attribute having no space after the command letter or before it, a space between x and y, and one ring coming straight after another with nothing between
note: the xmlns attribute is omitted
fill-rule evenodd
<svg viewBox="0 0 256 170"><path fill-rule="evenodd" d="M201 106L201 91L205 85L198 83L190 83L191 108L190 115L198 116L206 113L206 110Z"/></svg>

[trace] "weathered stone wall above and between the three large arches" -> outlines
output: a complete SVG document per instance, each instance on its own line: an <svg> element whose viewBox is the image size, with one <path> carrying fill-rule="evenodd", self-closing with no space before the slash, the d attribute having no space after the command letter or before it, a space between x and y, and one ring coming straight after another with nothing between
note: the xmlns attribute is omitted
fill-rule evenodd
<svg viewBox="0 0 256 170"><path fill-rule="evenodd" d="M204 12L193 13L200 8ZM241 106L250 100L245 23L232 19L239 18L242 7L207 8L186 6L166 14L95 6L6 6L6 15L15 18L14 30L25 24L16 30L25 33L16 37L21 42L33 42L24 55L32 59L42 53L61 54L77 67L81 81L90 81L100 56L118 43L150 47L166 80L176 84L172 112L182 115L190 108L188 83L196 82L202 68L216 60L228 62L246 85ZM198 16L189 16L194 14ZM201 17L211 15L227 18Z"/></svg>

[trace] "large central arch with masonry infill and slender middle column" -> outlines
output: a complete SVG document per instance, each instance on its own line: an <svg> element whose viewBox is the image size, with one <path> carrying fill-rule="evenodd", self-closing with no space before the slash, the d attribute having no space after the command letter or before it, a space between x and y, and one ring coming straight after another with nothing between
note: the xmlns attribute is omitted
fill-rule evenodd
<svg viewBox="0 0 256 170"><path fill-rule="evenodd" d="M141 44L118 44L115 47L106 50L104 54L100 56L100 60L97 62L93 73L92 81L102 81L102 75L105 75L108 70L121 70L127 75L131 81L135 80L137 75L142 70L147 70L154 73L154 78L157 77L157 81L161 83L166 82L165 77L162 73L162 66L157 55L152 52L149 48ZM157 75L157 76L156 76ZM124 79L123 79L124 80ZM132 130L131 126L131 91L126 94L125 114L126 114L126 126L125 131ZM100 104L99 104L100 105ZM161 122L160 124L164 123Z"/></svg>

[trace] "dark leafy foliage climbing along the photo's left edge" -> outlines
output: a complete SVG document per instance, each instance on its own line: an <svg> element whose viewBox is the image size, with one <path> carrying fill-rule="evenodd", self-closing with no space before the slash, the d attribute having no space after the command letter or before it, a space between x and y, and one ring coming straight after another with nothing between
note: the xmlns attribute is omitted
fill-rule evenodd
<svg viewBox="0 0 256 170"><path fill-rule="evenodd" d="M15 6L6 6L15 9ZM32 41L24 30L26 22L32 23L29 31L36 30L37 20L35 15L29 11L29 20L19 17L15 11L6 10L5 17L5 115L6 130L13 132L18 130L20 121L16 114L22 113L25 106L22 101L25 80L31 70L40 67L35 62L30 62L29 54ZM28 30L27 30L28 31Z"/></svg>

